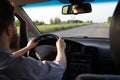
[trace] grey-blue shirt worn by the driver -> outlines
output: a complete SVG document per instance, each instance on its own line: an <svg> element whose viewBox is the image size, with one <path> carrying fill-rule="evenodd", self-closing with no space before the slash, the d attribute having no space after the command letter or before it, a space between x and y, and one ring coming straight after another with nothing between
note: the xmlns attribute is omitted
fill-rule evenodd
<svg viewBox="0 0 120 80"><path fill-rule="evenodd" d="M0 49L0 74L11 80L61 80L63 72L61 62L15 58L8 49Z"/></svg>

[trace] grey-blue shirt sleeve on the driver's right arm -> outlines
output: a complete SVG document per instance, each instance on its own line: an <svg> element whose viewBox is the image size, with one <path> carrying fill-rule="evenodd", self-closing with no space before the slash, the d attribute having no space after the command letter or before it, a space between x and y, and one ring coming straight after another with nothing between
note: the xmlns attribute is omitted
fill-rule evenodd
<svg viewBox="0 0 120 80"><path fill-rule="evenodd" d="M64 65L58 61L37 61L29 59L29 67L34 77L38 80L61 80L64 73ZM32 75L32 76L33 76Z"/></svg>

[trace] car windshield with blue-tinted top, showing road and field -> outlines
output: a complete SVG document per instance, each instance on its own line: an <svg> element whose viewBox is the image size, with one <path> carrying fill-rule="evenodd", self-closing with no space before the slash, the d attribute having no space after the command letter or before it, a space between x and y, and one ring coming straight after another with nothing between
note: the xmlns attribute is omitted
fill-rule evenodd
<svg viewBox="0 0 120 80"><path fill-rule="evenodd" d="M78 15L63 15L63 4L53 0L22 7L43 34L52 33L59 37L109 38L109 26L117 0L96 0L91 5L91 13Z"/></svg>

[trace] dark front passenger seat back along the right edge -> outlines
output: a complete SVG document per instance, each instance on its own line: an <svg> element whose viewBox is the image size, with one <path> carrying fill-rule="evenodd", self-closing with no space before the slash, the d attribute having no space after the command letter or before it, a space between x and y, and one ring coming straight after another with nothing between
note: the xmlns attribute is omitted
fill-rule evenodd
<svg viewBox="0 0 120 80"><path fill-rule="evenodd" d="M110 26L110 46L116 71L120 74L120 0L113 14Z"/></svg>

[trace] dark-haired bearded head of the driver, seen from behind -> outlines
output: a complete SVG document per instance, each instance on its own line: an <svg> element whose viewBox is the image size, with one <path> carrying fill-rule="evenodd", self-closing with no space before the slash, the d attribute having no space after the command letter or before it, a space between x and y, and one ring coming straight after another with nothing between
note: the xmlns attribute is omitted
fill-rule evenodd
<svg viewBox="0 0 120 80"><path fill-rule="evenodd" d="M0 40L7 39L9 46L16 36L14 15L14 5L9 0L0 0Z"/></svg>

